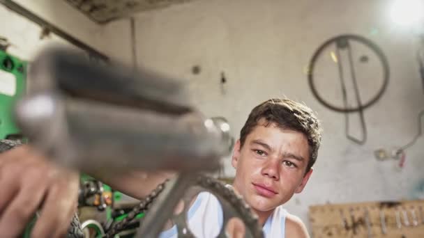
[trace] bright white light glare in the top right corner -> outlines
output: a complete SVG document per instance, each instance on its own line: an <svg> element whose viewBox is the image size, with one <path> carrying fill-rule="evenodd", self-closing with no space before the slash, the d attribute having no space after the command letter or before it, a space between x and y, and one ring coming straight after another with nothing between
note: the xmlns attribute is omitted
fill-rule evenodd
<svg viewBox="0 0 424 238"><path fill-rule="evenodd" d="M423 0L395 0L391 6L393 22L403 26L423 24L424 1Z"/></svg>

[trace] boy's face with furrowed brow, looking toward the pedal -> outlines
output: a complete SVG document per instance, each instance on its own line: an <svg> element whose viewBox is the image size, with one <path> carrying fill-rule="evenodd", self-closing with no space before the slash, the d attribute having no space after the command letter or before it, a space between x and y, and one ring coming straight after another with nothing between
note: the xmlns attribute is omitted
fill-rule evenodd
<svg viewBox="0 0 424 238"><path fill-rule="evenodd" d="M234 187L245 201L261 212L270 211L300 193L312 169L305 175L309 161L308 140L301 132L281 129L274 123L258 125L245 138L243 148L237 141L232 165L236 168Z"/></svg>

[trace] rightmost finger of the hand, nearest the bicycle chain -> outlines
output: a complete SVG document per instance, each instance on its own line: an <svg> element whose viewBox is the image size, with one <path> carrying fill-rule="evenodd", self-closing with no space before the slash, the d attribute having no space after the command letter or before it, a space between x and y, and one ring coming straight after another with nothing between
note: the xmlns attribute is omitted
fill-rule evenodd
<svg viewBox="0 0 424 238"><path fill-rule="evenodd" d="M53 237L65 234L74 211L75 200L77 200L77 194L68 191L73 190L69 190L67 184L63 183L56 183L50 189L33 229L33 237Z"/></svg>

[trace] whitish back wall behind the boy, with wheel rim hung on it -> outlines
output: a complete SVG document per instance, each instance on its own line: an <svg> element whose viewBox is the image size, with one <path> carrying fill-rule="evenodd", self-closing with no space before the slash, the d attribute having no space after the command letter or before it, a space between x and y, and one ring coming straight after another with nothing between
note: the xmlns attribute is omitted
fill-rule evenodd
<svg viewBox="0 0 424 238"><path fill-rule="evenodd" d="M138 15L137 56L141 65L187 79L195 104L206 116L228 118L236 137L250 109L269 97L287 96L317 111L325 132L315 172L305 191L286 205L308 223L309 205L411 199L424 178L424 138L407 151L402 170L395 168L396 161L379 162L373 155L377 148L407 143L417 131L416 116L424 107L415 38L389 22L390 3L196 1ZM363 146L345 138L344 116L315 100L305 75L315 49L342 33L363 35L377 43L391 65L386 93L365 111L369 135ZM201 74L193 75L192 65L200 65ZM366 75L378 75L372 70ZM227 76L225 94L220 88L222 71ZM335 84L335 88L324 93L336 95L339 86L328 80L328 86ZM377 85L374 80L379 79L368 79L370 88ZM368 92L365 87L361 90ZM225 162L225 174L234 175L229 159Z"/></svg>

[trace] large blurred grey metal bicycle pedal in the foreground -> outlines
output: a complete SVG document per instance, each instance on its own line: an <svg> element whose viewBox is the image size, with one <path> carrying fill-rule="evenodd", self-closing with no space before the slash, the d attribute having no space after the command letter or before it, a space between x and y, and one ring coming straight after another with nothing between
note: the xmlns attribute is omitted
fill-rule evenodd
<svg viewBox="0 0 424 238"><path fill-rule="evenodd" d="M65 49L40 54L29 78L17 122L65 166L216 170L228 153L228 131L196 112L182 81L92 65Z"/></svg>

